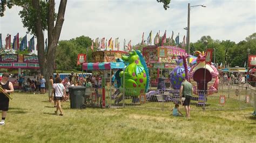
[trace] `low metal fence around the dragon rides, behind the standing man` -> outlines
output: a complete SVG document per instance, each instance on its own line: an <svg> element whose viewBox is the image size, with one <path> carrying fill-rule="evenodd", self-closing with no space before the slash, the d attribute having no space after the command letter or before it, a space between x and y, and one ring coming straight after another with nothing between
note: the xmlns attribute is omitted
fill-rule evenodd
<svg viewBox="0 0 256 143"><path fill-rule="evenodd" d="M146 94L139 90L106 88L107 107L171 110L175 103L181 106L179 90L151 90ZM254 106L255 90L218 90L210 95L211 92L197 91L191 100L192 110L239 110Z"/></svg>

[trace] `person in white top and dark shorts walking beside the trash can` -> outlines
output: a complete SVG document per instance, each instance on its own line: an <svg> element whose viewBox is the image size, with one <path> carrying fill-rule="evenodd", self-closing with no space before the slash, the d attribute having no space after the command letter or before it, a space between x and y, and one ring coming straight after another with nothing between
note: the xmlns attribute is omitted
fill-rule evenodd
<svg viewBox="0 0 256 143"><path fill-rule="evenodd" d="M65 87L62 84L62 80L60 79L60 77L56 78L55 82L56 83L54 83L52 86L52 94L53 92L55 92L54 100L57 102L55 114L57 115L59 110L60 111L59 116L63 116L63 110L62 110L62 106L60 105L60 101L62 101L63 98L66 97Z"/></svg>

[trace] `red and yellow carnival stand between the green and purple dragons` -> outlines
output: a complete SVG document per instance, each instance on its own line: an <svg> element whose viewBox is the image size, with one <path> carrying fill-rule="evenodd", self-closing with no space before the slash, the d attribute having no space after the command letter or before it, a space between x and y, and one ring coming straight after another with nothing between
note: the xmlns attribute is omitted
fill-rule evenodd
<svg viewBox="0 0 256 143"><path fill-rule="evenodd" d="M143 58L149 68L151 87L157 87L158 78L164 77L166 87L170 87L169 74L177 66L178 56L185 55L183 48L176 46L146 46L142 49ZM190 55L190 63L196 63L196 56Z"/></svg>

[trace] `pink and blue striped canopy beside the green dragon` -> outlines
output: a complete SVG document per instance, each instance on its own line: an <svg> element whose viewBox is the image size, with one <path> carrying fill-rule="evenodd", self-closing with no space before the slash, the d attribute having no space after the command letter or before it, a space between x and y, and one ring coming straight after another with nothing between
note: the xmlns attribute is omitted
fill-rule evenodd
<svg viewBox="0 0 256 143"><path fill-rule="evenodd" d="M123 62L96 62L83 63L83 70L107 70L107 69L124 69Z"/></svg>

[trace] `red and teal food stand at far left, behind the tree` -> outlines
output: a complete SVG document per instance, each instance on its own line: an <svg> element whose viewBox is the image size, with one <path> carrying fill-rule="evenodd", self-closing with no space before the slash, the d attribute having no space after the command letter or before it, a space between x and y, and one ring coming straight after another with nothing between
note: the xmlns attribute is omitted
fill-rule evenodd
<svg viewBox="0 0 256 143"><path fill-rule="evenodd" d="M34 76L31 73L33 73L32 70L35 70L35 73L39 69L38 58L34 55L3 54L0 55L0 69L5 69L5 72L12 75L9 81L12 82L15 89L18 89L18 75L22 73L22 70L29 70L25 72L25 79L33 80Z"/></svg>

